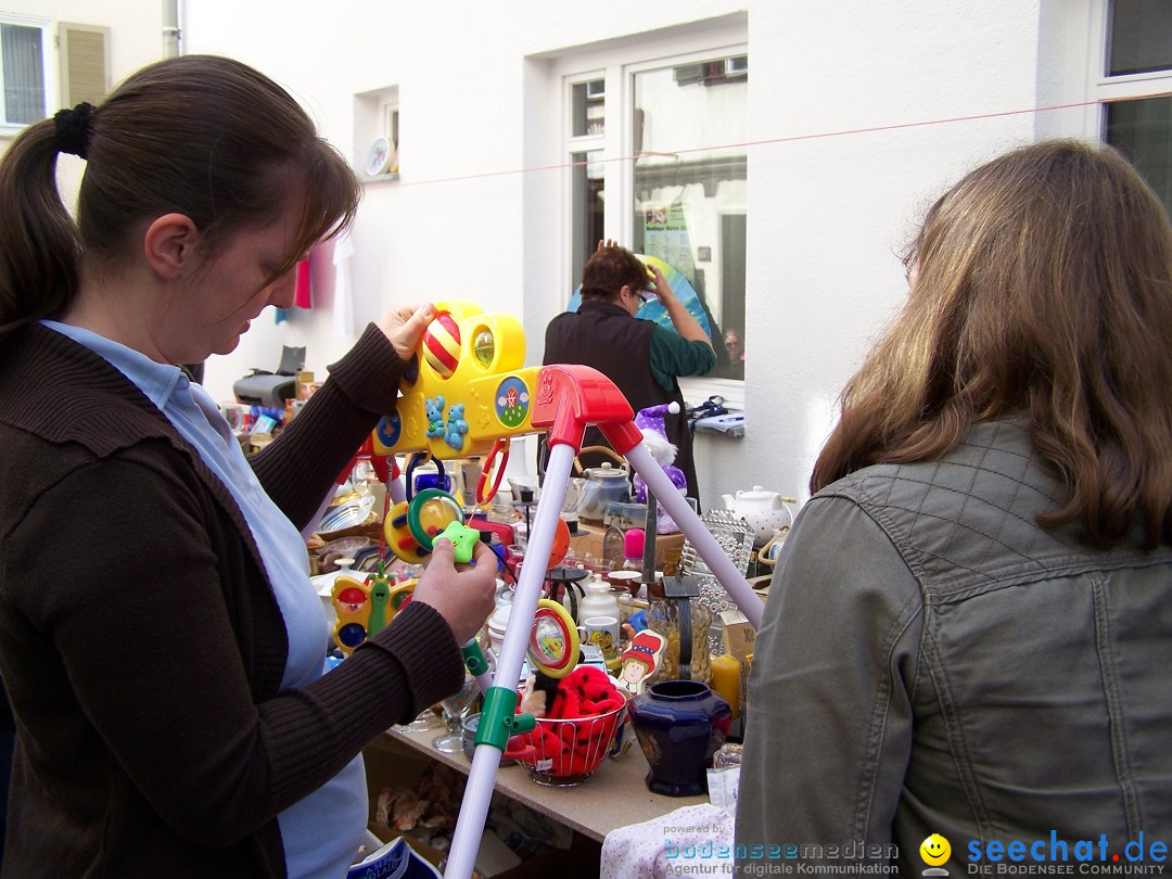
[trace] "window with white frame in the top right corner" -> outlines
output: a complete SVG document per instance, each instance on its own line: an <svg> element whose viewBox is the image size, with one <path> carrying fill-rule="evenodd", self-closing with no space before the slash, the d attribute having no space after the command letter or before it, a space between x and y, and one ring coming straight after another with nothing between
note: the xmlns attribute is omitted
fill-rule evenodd
<svg viewBox="0 0 1172 879"><path fill-rule="evenodd" d="M1091 80L1101 136L1118 146L1172 212L1172 2L1099 0L1102 52Z"/></svg>

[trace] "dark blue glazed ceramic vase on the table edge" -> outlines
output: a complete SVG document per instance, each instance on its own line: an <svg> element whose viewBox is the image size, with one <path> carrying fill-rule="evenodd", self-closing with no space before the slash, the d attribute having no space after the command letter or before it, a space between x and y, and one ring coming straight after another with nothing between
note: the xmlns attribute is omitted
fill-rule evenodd
<svg viewBox="0 0 1172 879"><path fill-rule="evenodd" d="M724 744L732 710L699 681L661 681L631 701L650 771L647 788L669 797L708 792L707 769Z"/></svg>

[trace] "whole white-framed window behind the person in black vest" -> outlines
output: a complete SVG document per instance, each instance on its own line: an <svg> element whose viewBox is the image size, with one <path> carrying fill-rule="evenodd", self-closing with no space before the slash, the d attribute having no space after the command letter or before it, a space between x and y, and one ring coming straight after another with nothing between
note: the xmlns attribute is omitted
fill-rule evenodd
<svg viewBox="0 0 1172 879"><path fill-rule="evenodd" d="M673 49L681 49L673 52ZM642 60L640 57L648 60ZM743 42L662 42L564 77L567 291L602 238L659 257L708 327L717 369L689 400L743 403L749 56ZM572 62L567 62L572 63ZM751 347L751 339L749 340Z"/></svg>

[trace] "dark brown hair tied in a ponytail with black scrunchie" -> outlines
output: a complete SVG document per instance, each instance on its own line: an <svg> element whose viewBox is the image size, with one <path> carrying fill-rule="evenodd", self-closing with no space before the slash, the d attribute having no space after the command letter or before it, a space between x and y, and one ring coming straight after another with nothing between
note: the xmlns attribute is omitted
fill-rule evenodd
<svg viewBox="0 0 1172 879"><path fill-rule="evenodd" d="M138 224L190 217L209 252L304 198L284 274L354 218L361 185L285 89L238 61L184 55L128 77L94 109L77 222L56 186L56 125L29 125L0 159L0 338L60 313L81 261L134 253Z"/></svg>

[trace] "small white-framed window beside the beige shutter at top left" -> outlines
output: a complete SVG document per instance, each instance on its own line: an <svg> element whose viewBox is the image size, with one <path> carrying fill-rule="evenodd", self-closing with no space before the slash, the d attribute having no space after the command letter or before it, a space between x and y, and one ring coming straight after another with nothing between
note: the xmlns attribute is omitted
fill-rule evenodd
<svg viewBox="0 0 1172 879"><path fill-rule="evenodd" d="M48 116L49 22L0 14L0 131Z"/></svg>

